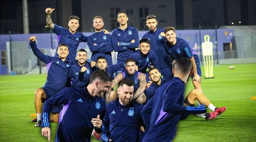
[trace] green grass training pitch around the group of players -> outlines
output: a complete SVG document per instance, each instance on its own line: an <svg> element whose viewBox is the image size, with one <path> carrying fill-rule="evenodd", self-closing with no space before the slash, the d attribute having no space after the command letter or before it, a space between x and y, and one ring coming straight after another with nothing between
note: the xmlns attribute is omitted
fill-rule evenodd
<svg viewBox="0 0 256 142"><path fill-rule="evenodd" d="M226 106L226 112L210 121L197 116L180 121L175 142L256 141L256 100L250 100L256 97L256 64L235 64L233 70L228 66L214 66L215 78L202 79L203 93L216 107ZM28 117L35 113L34 91L45 80L45 74L0 76L1 142L47 141ZM190 79L186 94L192 88ZM54 141L57 124L51 126Z"/></svg>

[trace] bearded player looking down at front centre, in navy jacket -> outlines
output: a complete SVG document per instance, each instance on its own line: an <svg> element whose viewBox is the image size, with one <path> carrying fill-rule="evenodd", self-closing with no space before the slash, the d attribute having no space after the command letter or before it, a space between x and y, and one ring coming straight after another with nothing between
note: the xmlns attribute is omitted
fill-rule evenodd
<svg viewBox="0 0 256 142"><path fill-rule="evenodd" d="M104 117L103 142L136 142L140 126L143 124L140 111L143 108L133 100L134 83L125 78L118 83L119 98L107 104Z"/></svg>

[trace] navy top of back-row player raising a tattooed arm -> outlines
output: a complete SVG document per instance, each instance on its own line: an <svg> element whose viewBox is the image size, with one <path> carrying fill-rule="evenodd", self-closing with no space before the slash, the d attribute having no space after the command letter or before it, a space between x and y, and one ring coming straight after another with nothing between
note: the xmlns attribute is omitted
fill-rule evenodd
<svg viewBox="0 0 256 142"><path fill-rule="evenodd" d="M57 24L54 24L54 28L52 30L58 35L58 45L54 56L59 57L57 54L58 46L62 43L65 43L69 48L67 60L75 60L76 50L78 49L79 43L87 42L86 35L79 32L72 34L69 32L69 29L60 27Z"/></svg>

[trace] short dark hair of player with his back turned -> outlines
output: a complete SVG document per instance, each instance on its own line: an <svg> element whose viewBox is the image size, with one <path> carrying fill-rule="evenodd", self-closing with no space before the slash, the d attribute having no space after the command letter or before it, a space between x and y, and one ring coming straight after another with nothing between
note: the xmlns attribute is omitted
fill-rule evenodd
<svg viewBox="0 0 256 142"><path fill-rule="evenodd" d="M181 71L184 75L187 75L192 69L192 63L190 59L181 57L175 62L173 67L175 70Z"/></svg>

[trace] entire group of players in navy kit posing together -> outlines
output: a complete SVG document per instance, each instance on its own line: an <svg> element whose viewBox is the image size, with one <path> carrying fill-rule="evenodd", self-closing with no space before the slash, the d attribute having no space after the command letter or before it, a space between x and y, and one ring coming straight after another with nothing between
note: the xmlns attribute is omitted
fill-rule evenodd
<svg viewBox="0 0 256 142"><path fill-rule="evenodd" d="M29 39L33 53L47 64L47 81L35 92L33 121L48 140L51 121L59 123L55 141L90 141L93 130L104 142L172 141L178 121L189 114L210 120L226 110L203 94L199 58L188 42L176 38L174 27L157 28L156 16L146 17L149 31L139 40L125 12L118 12L112 35L103 30L103 18L94 17L95 33L87 37L77 32L77 16L69 17L65 29L52 22L53 11L46 9L46 22L58 35L55 56L44 55L36 37ZM77 50L80 42L87 42L91 59ZM112 51L118 53L115 65ZM190 75L195 89L184 99Z"/></svg>

